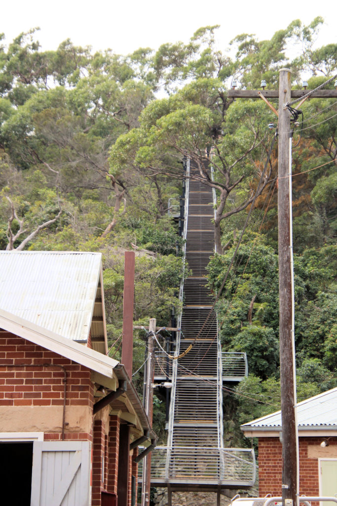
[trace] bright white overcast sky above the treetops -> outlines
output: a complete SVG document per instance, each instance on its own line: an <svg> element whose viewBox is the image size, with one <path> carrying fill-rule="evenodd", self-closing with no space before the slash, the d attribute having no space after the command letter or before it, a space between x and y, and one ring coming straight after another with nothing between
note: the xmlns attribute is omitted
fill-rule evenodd
<svg viewBox="0 0 337 506"><path fill-rule="evenodd" d="M42 50L57 49L69 37L75 45L125 55L139 47L186 42L201 26L219 24L218 47L225 50L240 33L256 33L263 40L294 19L308 24L322 16L325 24L317 41L322 46L337 41L336 14L334 0L5 0L0 33L8 44L22 31L39 26Z"/></svg>

